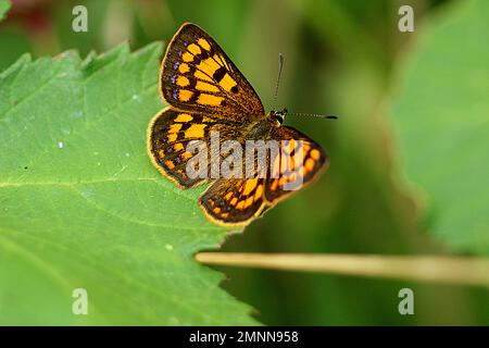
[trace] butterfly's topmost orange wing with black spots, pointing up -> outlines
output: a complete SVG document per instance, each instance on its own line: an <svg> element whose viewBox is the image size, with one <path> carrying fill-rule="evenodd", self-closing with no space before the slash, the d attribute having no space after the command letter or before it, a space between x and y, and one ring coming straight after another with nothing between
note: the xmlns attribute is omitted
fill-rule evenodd
<svg viewBox="0 0 489 348"><path fill-rule="evenodd" d="M221 47L200 27L184 24L170 42L160 73L163 98L179 110L227 119L263 119L262 102Z"/></svg>

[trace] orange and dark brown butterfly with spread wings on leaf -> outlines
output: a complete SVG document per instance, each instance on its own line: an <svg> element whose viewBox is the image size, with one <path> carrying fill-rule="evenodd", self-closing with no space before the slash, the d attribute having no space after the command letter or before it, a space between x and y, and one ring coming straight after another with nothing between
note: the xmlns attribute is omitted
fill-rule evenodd
<svg viewBox="0 0 489 348"><path fill-rule="evenodd" d="M214 223L246 225L293 192L290 185L309 184L328 166L328 156L318 144L281 125L287 110L265 113L253 87L195 24L183 24L168 44L160 70L160 91L170 107L149 124L148 153L154 166L180 188L212 182L198 204ZM216 133L220 144L276 140L278 152L271 151L265 158L271 170L244 177L189 175L188 164L196 153L188 146L196 140L209 146ZM298 163L284 160L299 150Z"/></svg>

